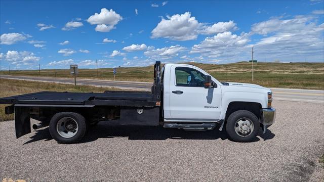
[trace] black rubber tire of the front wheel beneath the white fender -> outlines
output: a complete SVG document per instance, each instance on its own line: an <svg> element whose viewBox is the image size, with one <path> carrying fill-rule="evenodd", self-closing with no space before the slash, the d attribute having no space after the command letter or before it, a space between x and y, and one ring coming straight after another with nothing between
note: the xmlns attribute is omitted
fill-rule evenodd
<svg viewBox="0 0 324 182"><path fill-rule="evenodd" d="M239 126L240 121L248 121L251 131L249 133L240 133L239 131L235 131L235 125ZM237 123L236 123L237 122ZM251 125L252 123L253 125ZM238 128L238 127L236 127ZM256 135L259 133L260 123L258 117L250 111L247 110L239 110L235 111L229 115L226 122L226 132L229 137L235 142L252 142Z"/></svg>

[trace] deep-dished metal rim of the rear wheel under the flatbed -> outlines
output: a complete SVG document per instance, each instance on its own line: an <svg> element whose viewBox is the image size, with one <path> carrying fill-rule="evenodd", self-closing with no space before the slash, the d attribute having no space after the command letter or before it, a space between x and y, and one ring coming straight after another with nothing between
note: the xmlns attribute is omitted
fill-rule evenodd
<svg viewBox="0 0 324 182"><path fill-rule="evenodd" d="M56 124L57 133L65 139L72 138L78 130L75 119L71 117L63 117Z"/></svg>

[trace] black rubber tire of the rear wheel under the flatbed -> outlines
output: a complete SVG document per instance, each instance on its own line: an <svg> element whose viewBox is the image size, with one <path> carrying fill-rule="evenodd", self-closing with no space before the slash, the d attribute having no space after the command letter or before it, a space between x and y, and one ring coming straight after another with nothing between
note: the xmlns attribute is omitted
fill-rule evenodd
<svg viewBox="0 0 324 182"><path fill-rule="evenodd" d="M59 126L57 125L58 122L62 122L60 121L61 119L64 118L69 118L72 119L72 122L76 122L77 123L77 130L73 133L74 135L69 137L69 138L64 138L60 133L59 133L59 129L57 129ZM64 122L63 122L64 125ZM65 127L65 126L64 126ZM83 117L82 115L78 114L78 113L74 113L74 112L60 112L60 113L56 113L51 121L50 121L50 133L51 136L58 142L58 143L62 143L62 144L71 144L71 143L76 143L77 141L81 140L83 138L83 136L85 135L87 130L87 123L86 123L86 119L85 117Z"/></svg>

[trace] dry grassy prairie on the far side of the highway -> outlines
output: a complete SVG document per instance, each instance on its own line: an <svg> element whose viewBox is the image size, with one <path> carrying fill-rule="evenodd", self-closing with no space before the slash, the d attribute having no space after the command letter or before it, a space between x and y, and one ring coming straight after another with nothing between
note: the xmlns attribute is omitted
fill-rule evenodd
<svg viewBox="0 0 324 182"><path fill-rule="evenodd" d="M267 87L324 89L324 63L255 63L252 81L251 63L239 62L223 65L189 63L204 69L219 81L255 83ZM54 77L55 70L0 71L0 74ZM56 70L57 77L70 77L68 69ZM112 68L79 69L78 78L113 80ZM153 66L117 68L116 80L153 80Z"/></svg>

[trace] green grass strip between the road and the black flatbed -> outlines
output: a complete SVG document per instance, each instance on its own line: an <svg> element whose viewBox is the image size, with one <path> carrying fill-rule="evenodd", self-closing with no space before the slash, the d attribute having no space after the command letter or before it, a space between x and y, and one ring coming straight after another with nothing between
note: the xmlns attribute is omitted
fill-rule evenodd
<svg viewBox="0 0 324 182"><path fill-rule="evenodd" d="M59 83L44 83L36 81L22 81L11 79L0 79L0 98L28 94L41 91L57 92L97 92L103 93L105 90L118 90L116 88L94 87L94 86L77 86ZM0 121L13 120L14 115L5 114L6 105L0 105Z"/></svg>

